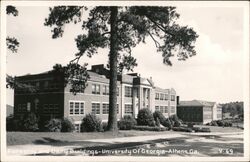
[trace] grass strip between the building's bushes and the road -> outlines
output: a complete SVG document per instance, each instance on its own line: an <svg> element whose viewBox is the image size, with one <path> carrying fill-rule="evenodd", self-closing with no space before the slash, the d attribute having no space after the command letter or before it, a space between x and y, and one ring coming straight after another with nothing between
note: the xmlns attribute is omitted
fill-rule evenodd
<svg viewBox="0 0 250 162"><path fill-rule="evenodd" d="M215 126L199 126L209 127L211 132L242 132L241 129L234 127L215 127ZM180 134L185 132L175 131L119 131L112 132L91 132L91 133L59 133L59 132L7 132L7 145L24 145L24 144L56 144L56 145L74 145L80 141L89 139L108 139L119 137L145 136L145 135L160 135L160 134Z"/></svg>

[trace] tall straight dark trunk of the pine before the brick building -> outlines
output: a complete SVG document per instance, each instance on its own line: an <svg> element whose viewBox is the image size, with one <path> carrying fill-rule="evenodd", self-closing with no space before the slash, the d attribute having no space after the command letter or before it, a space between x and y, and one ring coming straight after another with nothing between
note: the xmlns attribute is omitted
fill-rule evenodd
<svg viewBox="0 0 250 162"><path fill-rule="evenodd" d="M108 130L117 131L117 55L118 55L118 43L117 43L117 14L118 7L111 7L110 17L110 83L109 83L109 118L108 118Z"/></svg>

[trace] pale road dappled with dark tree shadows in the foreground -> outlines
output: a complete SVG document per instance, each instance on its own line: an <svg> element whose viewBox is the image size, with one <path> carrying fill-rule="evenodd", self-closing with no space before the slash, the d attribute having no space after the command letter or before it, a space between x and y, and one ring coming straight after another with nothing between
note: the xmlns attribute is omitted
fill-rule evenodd
<svg viewBox="0 0 250 162"><path fill-rule="evenodd" d="M187 140L191 139L192 140ZM49 144L52 146L67 146L67 145L76 145L82 146L80 148L73 148L73 152L67 154L69 156L243 156L243 142L242 138L228 138L223 139L224 137L220 136L197 136L197 138L201 138L201 140L196 140L196 136L189 137L179 137L179 138L164 138L164 139L156 139L156 140L147 140L142 142L123 142L123 143L104 143L104 142L91 142L91 141L61 141L55 140L51 138L43 138L43 140L35 141L36 144ZM213 141L206 141L206 139L213 139ZM238 139L239 142L230 143L230 140ZM228 141L228 142L226 142ZM160 145L157 145L160 144ZM133 150L144 150L140 153L133 153ZM157 152L153 154L145 153L152 150L197 150L198 154L189 153L169 153L165 152L163 154L159 154ZM233 153L228 152L228 150L233 150ZM103 151L103 150L106 150ZM95 151L94 153L86 151ZM113 151L113 152L112 152ZM120 151L119 153L115 153L115 151ZM39 156L65 156L65 153L41 153L37 154Z"/></svg>

